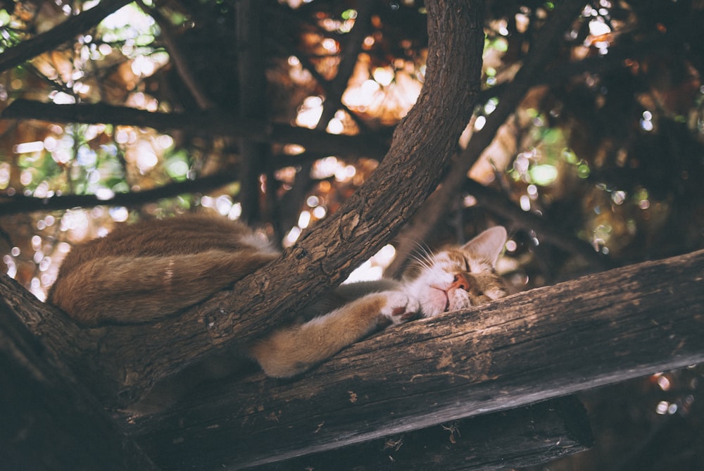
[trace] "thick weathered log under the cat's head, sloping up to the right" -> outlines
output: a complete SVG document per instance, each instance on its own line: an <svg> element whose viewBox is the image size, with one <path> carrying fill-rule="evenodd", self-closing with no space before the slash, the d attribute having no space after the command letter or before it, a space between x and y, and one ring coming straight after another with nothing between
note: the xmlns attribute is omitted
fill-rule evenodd
<svg viewBox="0 0 704 471"><path fill-rule="evenodd" d="M389 329L293 381L201 389L132 434L165 468L255 465L700 363L703 287L699 251L535 289Z"/></svg>

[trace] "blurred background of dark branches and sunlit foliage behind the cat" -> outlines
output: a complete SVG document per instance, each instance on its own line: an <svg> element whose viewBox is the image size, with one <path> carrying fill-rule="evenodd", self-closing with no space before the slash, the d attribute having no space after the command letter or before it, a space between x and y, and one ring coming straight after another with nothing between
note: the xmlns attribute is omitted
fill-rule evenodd
<svg viewBox="0 0 704 471"><path fill-rule="evenodd" d="M290 246L375 170L424 81L422 1L126 3L0 1L1 266L40 299L70 246L139 218L219 213ZM516 291L703 248L704 2L569 3L486 2L446 181L351 278L496 224ZM584 394L597 446L549 468L701 469L701 383Z"/></svg>

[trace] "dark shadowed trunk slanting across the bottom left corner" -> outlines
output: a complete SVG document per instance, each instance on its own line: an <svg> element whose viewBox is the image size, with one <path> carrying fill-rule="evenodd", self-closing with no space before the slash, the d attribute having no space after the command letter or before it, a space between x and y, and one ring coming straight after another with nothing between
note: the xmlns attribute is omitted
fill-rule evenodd
<svg viewBox="0 0 704 471"><path fill-rule="evenodd" d="M156 470L0 300L0 467Z"/></svg>

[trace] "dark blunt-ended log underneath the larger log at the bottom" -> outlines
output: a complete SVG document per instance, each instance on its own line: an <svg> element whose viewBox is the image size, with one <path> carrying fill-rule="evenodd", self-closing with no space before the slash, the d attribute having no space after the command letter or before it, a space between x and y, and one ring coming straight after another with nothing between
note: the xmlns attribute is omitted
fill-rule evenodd
<svg viewBox="0 0 704 471"><path fill-rule="evenodd" d="M507 470L548 463L592 445L584 406L570 396L255 469L327 470L346 463L356 471Z"/></svg>

